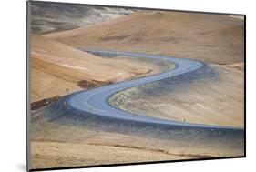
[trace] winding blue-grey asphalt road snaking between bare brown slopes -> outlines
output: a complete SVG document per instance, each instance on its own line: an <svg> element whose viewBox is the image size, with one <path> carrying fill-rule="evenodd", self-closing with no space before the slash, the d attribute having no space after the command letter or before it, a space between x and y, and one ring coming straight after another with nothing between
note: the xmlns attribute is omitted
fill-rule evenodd
<svg viewBox="0 0 256 172"><path fill-rule="evenodd" d="M142 78L138 78L135 80L119 82L117 84L112 84L108 86L101 86L97 88L92 88L86 91L80 91L70 96L67 96L65 101L67 103L68 109L73 109L73 111L77 110L79 112L83 112L83 116L93 116L96 118L100 118L101 121L117 121L118 125L123 125L126 123L133 123L138 122L139 126L169 126L171 128L179 127L179 128L197 128L197 129L208 129L208 130L221 130L221 131L229 131L232 132L239 132L241 135L243 133L242 128L234 128L230 126L207 126L207 125L200 125L200 124L189 124L189 123L182 123L178 121L166 120L166 119L159 119L156 117L150 116L140 116L136 114L131 114L129 112L120 110L114 106L110 106L108 104L108 98L113 96L118 91L128 89L134 86L140 86L147 84L149 82L158 81L161 79L168 78L170 76L180 76L184 74L189 74L195 70L199 70L200 67L206 66L205 64L189 60L189 59L182 59L182 58L174 58L169 56L156 56L156 55L146 55L140 53L129 53L129 52L117 52L117 51L103 51L103 50L92 50L87 48L79 48L83 51L88 53L100 53L106 54L109 56L138 56L144 57L148 59L157 59L157 60L164 60L169 61L171 63L175 63L176 67L173 70L169 70L164 73L160 73L153 76L145 76ZM88 121L88 120L87 120ZM120 124L118 121L121 121ZM116 124L117 125L117 124Z"/></svg>

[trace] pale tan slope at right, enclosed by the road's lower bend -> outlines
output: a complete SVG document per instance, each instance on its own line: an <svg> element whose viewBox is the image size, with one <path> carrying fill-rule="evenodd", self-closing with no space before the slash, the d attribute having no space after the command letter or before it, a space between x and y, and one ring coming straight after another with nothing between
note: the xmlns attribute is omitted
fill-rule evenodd
<svg viewBox="0 0 256 172"><path fill-rule="evenodd" d="M212 126L244 127L244 79L243 71L238 66L242 64L214 66L219 73L218 79L180 86L165 95L145 94L141 87L133 87L112 96L110 102L113 106L143 116ZM146 85L144 89L147 90ZM138 95L143 98L133 97Z"/></svg>

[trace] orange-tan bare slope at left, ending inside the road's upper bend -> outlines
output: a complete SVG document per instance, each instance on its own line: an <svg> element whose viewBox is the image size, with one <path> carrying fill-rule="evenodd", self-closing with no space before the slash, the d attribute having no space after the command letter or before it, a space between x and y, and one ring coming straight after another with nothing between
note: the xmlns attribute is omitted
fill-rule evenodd
<svg viewBox="0 0 256 172"><path fill-rule="evenodd" d="M40 35L31 46L32 102L159 72L150 62L93 56Z"/></svg>

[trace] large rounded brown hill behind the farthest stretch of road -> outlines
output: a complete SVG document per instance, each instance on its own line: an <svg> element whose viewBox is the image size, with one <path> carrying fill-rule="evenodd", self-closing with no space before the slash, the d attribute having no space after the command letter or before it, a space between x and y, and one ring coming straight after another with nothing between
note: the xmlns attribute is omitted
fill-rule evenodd
<svg viewBox="0 0 256 172"><path fill-rule="evenodd" d="M136 12L102 24L46 35L70 46L243 62L243 20L229 15Z"/></svg>

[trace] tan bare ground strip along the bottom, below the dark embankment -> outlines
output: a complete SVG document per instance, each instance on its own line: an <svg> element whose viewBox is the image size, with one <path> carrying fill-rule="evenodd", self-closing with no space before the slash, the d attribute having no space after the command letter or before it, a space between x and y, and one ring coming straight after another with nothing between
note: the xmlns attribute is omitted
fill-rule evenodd
<svg viewBox="0 0 256 172"><path fill-rule="evenodd" d="M40 129L39 129L39 128ZM47 122L32 129L31 167L76 167L243 155L218 143L199 144L61 126Z"/></svg>

